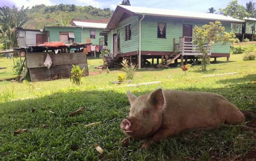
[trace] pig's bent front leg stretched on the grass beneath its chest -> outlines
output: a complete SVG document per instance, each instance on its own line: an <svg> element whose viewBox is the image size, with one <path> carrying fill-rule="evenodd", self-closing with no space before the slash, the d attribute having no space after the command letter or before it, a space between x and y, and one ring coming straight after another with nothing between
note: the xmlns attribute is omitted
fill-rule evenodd
<svg viewBox="0 0 256 161"><path fill-rule="evenodd" d="M155 133L155 135L152 138L145 141L142 147L147 149L149 144L156 143L159 140L162 140L168 136L176 135L177 133L179 133L179 132L177 130L175 130L175 128L161 129L157 133Z"/></svg>

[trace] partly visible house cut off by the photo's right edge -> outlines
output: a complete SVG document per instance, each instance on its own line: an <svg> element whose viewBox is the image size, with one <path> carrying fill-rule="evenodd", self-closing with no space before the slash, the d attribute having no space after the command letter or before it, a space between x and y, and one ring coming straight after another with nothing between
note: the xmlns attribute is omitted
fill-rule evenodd
<svg viewBox="0 0 256 161"><path fill-rule="evenodd" d="M245 38L253 41L256 37L255 24L256 18L244 18L244 22L242 24L236 24L234 29L232 24L231 31L234 31L236 37L239 38L240 41L244 41Z"/></svg>

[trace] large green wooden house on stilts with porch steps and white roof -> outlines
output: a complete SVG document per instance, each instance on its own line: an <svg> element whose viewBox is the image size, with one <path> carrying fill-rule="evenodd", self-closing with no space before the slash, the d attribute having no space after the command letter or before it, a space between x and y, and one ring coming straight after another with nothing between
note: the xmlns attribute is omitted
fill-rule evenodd
<svg viewBox="0 0 256 161"><path fill-rule="evenodd" d="M139 67L150 64L149 58L153 62L156 59L158 67L168 67L173 61L177 64L177 59L182 62L183 59L194 59L199 54L191 42L194 26L216 20L222 22L227 32L231 31L231 23L243 23L218 14L118 5L106 29L101 32L107 35L113 57L103 68L121 57L129 58ZM217 43L209 55L229 58L230 44Z"/></svg>

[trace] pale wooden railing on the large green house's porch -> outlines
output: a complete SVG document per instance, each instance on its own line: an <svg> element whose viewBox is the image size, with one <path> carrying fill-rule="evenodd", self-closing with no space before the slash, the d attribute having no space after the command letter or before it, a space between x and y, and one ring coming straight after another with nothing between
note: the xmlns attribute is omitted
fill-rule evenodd
<svg viewBox="0 0 256 161"><path fill-rule="evenodd" d="M202 55L202 53L198 49L198 45L193 44L192 41L185 41L185 38L191 38L192 37L187 37L183 36L179 38L179 43L175 44L175 51L179 52L181 55ZM207 43L204 45L204 48L206 49ZM177 48L178 47L178 48ZM211 49L208 51L208 55L211 55Z"/></svg>

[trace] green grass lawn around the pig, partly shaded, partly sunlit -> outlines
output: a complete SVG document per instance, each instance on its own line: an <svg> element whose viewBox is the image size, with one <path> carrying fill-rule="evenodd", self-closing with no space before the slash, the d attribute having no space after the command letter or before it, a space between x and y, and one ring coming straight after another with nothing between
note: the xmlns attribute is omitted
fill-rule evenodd
<svg viewBox="0 0 256 161"><path fill-rule="evenodd" d="M189 91L215 92L226 97L239 109L256 112L256 60L242 61L244 54L231 55L230 62L218 58L206 72L194 66L186 73L180 67L139 70L132 84L160 83L125 87L112 84L119 70L82 78L82 85L72 85L69 79L33 83L0 82L0 159L1 160L236 160L251 159L256 152L256 134L241 126L221 125L214 129L188 130L175 137L141 149L143 140L124 147L126 136L120 123L129 115L126 90L135 95L158 87ZM10 60L0 58L11 66ZM12 61L12 60L11 60ZM88 60L90 72L102 60ZM2 62L1 65L2 66ZM8 69L9 70L9 69ZM0 70L1 72L3 70ZM10 71L9 71L10 72ZM212 74L237 74L203 77ZM11 75L11 74L10 74ZM0 79L10 77L1 74ZM172 76L172 78L168 78ZM19 100L17 98L29 98ZM184 100L186 101L186 100ZM195 100L196 101L196 100ZM69 113L85 107L82 113ZM31 109L37 110L31 113ZM56 114L49 113L53 111ZM100 125L85 127L101 121ZM20 135L13 132L28 129ZM95 143L102 147L100 155ZM78 146L77 150L71 148ZM72 150L73 149L73 150Z"/></svg>

